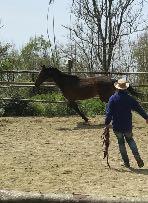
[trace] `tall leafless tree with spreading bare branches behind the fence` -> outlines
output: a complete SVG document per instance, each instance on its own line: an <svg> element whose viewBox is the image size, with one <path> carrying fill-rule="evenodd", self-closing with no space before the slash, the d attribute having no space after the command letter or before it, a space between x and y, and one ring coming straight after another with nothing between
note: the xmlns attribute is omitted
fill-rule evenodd
<svg viewBox="0 0 148 203"><path fill-rule="evenodd" d="M143 30L143 3L143 0L73 0L72 14L76 21L67 28L89 66L110 70L119 40Z"/></svg>

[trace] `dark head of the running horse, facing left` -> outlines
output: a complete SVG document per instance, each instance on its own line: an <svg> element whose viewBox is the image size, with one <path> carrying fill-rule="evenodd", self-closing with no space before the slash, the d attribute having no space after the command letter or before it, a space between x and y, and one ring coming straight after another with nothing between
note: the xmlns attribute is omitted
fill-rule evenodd
<svg viewBox="0 0 148 203"><path fill-rule="evenodd" d="M35 86L39 87L43 82L45 81L51 81L50 78L52 78L53 75L53 67L46 67L45 65L41 66L42 69L40 73L37 76L37 79L35 81Z"/></svg>

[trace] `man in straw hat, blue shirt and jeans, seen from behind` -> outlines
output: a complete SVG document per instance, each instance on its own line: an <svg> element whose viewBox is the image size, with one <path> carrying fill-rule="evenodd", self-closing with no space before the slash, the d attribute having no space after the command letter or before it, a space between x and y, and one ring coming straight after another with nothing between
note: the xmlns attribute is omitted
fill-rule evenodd
<svg viewBox="0 0 148 203"><path fill-rule="evenodd" d="M109 124L112 121L113 131L117 137L119 151L125 167L130 167L129 158L127 155L125 140L128 143L138 166L141 168L144 166L144 162L140 157L138 148L132 134L132 113L136 111L139 113L148 124L148 115L140 104L130 95L128 95L126 89L129 87L129 83L124 79L118 80L114 84L116 93L109 99L106 109L105 125L109 128Z"/></svg>

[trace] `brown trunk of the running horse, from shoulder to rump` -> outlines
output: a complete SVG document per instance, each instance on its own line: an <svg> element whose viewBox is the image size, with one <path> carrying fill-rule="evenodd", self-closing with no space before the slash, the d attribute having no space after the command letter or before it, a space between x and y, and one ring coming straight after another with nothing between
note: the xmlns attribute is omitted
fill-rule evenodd
<svg viewBox="0 0 148 203"><path fill-rule="evenodd" d="M79 78L79 82L69 84L63 89L63 94L68 100L84 100L99 96L107 102L114 91L112 80L106 76Z"/></svg>

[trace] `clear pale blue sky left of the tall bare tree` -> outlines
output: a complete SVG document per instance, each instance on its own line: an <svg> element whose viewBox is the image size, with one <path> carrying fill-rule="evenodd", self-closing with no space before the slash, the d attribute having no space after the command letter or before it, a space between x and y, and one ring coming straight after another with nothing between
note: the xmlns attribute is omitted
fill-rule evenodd
<svg viewBox="0 0 148 203"><path fill-rule="evenodd" d="M0 41L15 44L21 49L31 37L43 35L53 40L53 16L57 41L63 42L68 32L62 25L70 24L70 0L0 0ZM49 20L47 21L47 14Z"/></svg>

